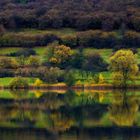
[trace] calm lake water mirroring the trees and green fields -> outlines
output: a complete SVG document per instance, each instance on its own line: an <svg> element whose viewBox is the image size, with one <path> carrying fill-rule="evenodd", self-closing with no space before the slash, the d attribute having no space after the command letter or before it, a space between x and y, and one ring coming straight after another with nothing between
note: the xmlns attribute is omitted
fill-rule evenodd
<svg viewBox="0 0 140 140"><path fill-rule="evenodd" d="M1 140L139 140L140 91L0 91Z"/></svg>

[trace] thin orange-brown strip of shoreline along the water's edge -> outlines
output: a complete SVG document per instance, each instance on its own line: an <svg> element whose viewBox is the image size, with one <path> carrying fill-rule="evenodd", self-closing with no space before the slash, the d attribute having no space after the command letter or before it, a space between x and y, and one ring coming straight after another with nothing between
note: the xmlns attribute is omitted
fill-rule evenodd
<svg viewBox="0 0 140 140"><path fill-rule="evenodd" d="M11 89L9 86L0 86L0 90L9 90ZM71 87L66 86L65 84L62 85L41 85L41 86L34 86L29 85L28 88L19 87L12 90L140 90L140 85L129 85L128 87L114 87L111 84L94 84L94 85L74 85Z"/></svg>

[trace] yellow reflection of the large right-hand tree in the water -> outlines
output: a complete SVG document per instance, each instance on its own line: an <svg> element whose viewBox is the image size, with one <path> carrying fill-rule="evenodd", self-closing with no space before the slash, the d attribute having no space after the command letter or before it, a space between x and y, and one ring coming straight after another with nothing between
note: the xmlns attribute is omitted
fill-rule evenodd
<svg viewBox="0 0 140 140"><path fill-rule="evenodd" d="M117 126L133 126L139 109L134 94L127 95L127 91L115 91L112 105L109 107L110 120Z"/></svg>

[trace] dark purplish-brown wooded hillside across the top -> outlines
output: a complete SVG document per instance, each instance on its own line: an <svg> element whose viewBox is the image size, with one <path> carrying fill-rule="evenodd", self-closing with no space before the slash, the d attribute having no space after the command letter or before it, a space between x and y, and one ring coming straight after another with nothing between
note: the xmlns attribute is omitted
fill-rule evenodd
<svg viewBox="0 0 140 140"><path fill-rule="evenodd" d="M61 28L140 31L139 0L3 0L0 23L7 29Z"/></svg>

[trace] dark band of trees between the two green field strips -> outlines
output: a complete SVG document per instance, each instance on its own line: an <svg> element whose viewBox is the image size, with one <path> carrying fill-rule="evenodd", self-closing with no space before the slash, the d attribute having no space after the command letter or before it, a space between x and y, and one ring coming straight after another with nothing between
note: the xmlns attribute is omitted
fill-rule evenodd
<svg viewBox="0 0 140 140"><path fill-rule="evenodd" d="M135 31L125 31L123 34L118 32L106 32L101 30L88 30L77 32L74 35L58 36L50 34L20 34L3 33L0 36L0 47L35 47L46 46L49 43L58 41L59 44L76 48L79 46L92 48L113 48L125 46L126 48L139 47L140 33Z"/></svg>

